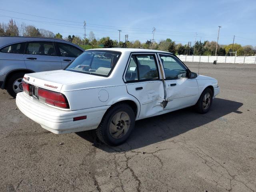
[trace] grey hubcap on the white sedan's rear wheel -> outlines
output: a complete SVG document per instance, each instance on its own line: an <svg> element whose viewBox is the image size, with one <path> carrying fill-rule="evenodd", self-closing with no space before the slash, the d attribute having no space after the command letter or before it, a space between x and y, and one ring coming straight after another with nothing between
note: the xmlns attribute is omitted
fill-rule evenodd
<svg viewBox="0 0 256 192"><path fill-rule="evenodd" d="M122 112L116 113L113 116L110 122L109 132L113 138L119 139L119 138L122 138L124 135L126 135L129 128L130 128L130 117L126 112L122 111Z"/></svg>

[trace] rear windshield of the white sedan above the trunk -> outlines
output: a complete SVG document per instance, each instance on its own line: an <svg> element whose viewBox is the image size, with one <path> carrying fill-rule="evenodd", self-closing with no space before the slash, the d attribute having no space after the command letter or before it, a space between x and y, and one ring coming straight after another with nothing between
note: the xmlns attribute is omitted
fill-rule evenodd
<svg viewBox="0 0 256 192"><path fill-rule="evenodd" d="M121 53L116 51L90 50L78 56L65 70L109 76Z"/></svg>

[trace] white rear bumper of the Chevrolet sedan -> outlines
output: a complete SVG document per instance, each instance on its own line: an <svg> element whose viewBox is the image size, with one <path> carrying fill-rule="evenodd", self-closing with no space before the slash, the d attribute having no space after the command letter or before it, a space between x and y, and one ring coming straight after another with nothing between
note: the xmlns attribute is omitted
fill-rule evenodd
<svg viewBox="0 0 256 192"><path fill-rule="evenodd" d="M96 129L109 107L102 106L76 111L64 111L41 103L28 96L25 92L17 94L16 105L28 118L55 134ZM73 121L74 117L85 115L87 116L85 120Z"/></svg>

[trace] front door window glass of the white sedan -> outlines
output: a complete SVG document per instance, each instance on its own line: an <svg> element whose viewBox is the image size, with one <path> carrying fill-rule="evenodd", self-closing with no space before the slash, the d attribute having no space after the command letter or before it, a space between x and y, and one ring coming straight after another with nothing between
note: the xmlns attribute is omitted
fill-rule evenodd
<svg viewBox="0 0 256 192"><path fill-rule="evenodd" d="M186 67L177 58L168 55L160 55L160 58L164 66L166 79L188 77Z"/></svg>

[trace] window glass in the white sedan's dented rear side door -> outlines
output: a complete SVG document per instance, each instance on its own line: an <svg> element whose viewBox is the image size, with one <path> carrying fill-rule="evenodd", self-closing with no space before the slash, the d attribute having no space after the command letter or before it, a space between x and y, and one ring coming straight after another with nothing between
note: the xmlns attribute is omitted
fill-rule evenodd
<svg viewBox="0 0 256 192"><path fill-rule="evenodd" d="M132 55L125 79L128 82L159 79L154 55Z"/></svg>

